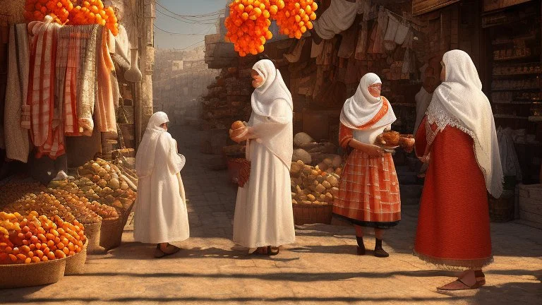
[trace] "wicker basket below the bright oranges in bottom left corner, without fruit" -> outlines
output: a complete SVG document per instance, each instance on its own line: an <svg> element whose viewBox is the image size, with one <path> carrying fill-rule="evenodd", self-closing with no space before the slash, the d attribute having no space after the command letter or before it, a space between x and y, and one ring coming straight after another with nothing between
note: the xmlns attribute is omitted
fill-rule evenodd
<svg viewBox="0 0 542 305"><path fill-rule="evenodd" d="M0 289L49 285L64 277L66 258L41 263L0 265Z"/></svg>

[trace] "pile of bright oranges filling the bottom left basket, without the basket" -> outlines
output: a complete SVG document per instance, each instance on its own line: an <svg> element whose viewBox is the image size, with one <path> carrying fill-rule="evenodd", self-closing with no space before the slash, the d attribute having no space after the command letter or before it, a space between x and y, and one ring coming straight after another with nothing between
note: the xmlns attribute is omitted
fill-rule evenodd
<svg viewBox="0 0 542 305"><path fill-rule="evenodd" d="M35 211L23 216L0 212L0 264L39 263L73 256L83 250L83 225L52 220Z"/></svg>

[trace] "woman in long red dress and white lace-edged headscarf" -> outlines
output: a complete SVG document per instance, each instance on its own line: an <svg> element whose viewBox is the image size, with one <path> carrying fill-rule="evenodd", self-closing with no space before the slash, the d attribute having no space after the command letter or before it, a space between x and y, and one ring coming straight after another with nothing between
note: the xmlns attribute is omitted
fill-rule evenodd
<svg viewBox="0 0 542 305"><path fill-rule="evenodd" d="M446 52L440 79L416 133L416 155L429 166L414 255L466 269L438 289L476 289L486 283L481 268L493 261L487 191L502 193L495 121L468 54Z"/></svg>

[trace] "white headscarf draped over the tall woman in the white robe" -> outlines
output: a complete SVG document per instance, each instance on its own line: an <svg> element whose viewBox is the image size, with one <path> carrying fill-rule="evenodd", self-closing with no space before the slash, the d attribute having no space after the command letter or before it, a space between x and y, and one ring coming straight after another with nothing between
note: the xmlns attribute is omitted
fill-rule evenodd
<svg viewBox="0 0 542 305"><path fill-rule="evenodd" d="M272 61L260 60L252 68L263 78L263 82L252 93L252 115L248 125L258 136L257 141L263 143L289 169L294 152L294 104L291 93Z"/></svg>

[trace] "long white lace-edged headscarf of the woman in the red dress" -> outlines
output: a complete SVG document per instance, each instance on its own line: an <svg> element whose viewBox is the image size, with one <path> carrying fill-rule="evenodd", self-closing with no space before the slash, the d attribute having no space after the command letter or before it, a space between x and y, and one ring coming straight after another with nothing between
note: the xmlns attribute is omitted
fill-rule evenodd
<svg viewBox="0 0 542 305"><path fill-rule="evenodd" d="M486 179L486 188L498 198L502 193L502 167L495 119L488 97L482 92L476 66L469 54L457 49L446 52L442 61L446 78L433 93L427 110L428 147L447 125L469 134L474 140L474 153ZM430 128L433 123L438 126L436 131Z"/></svg>

